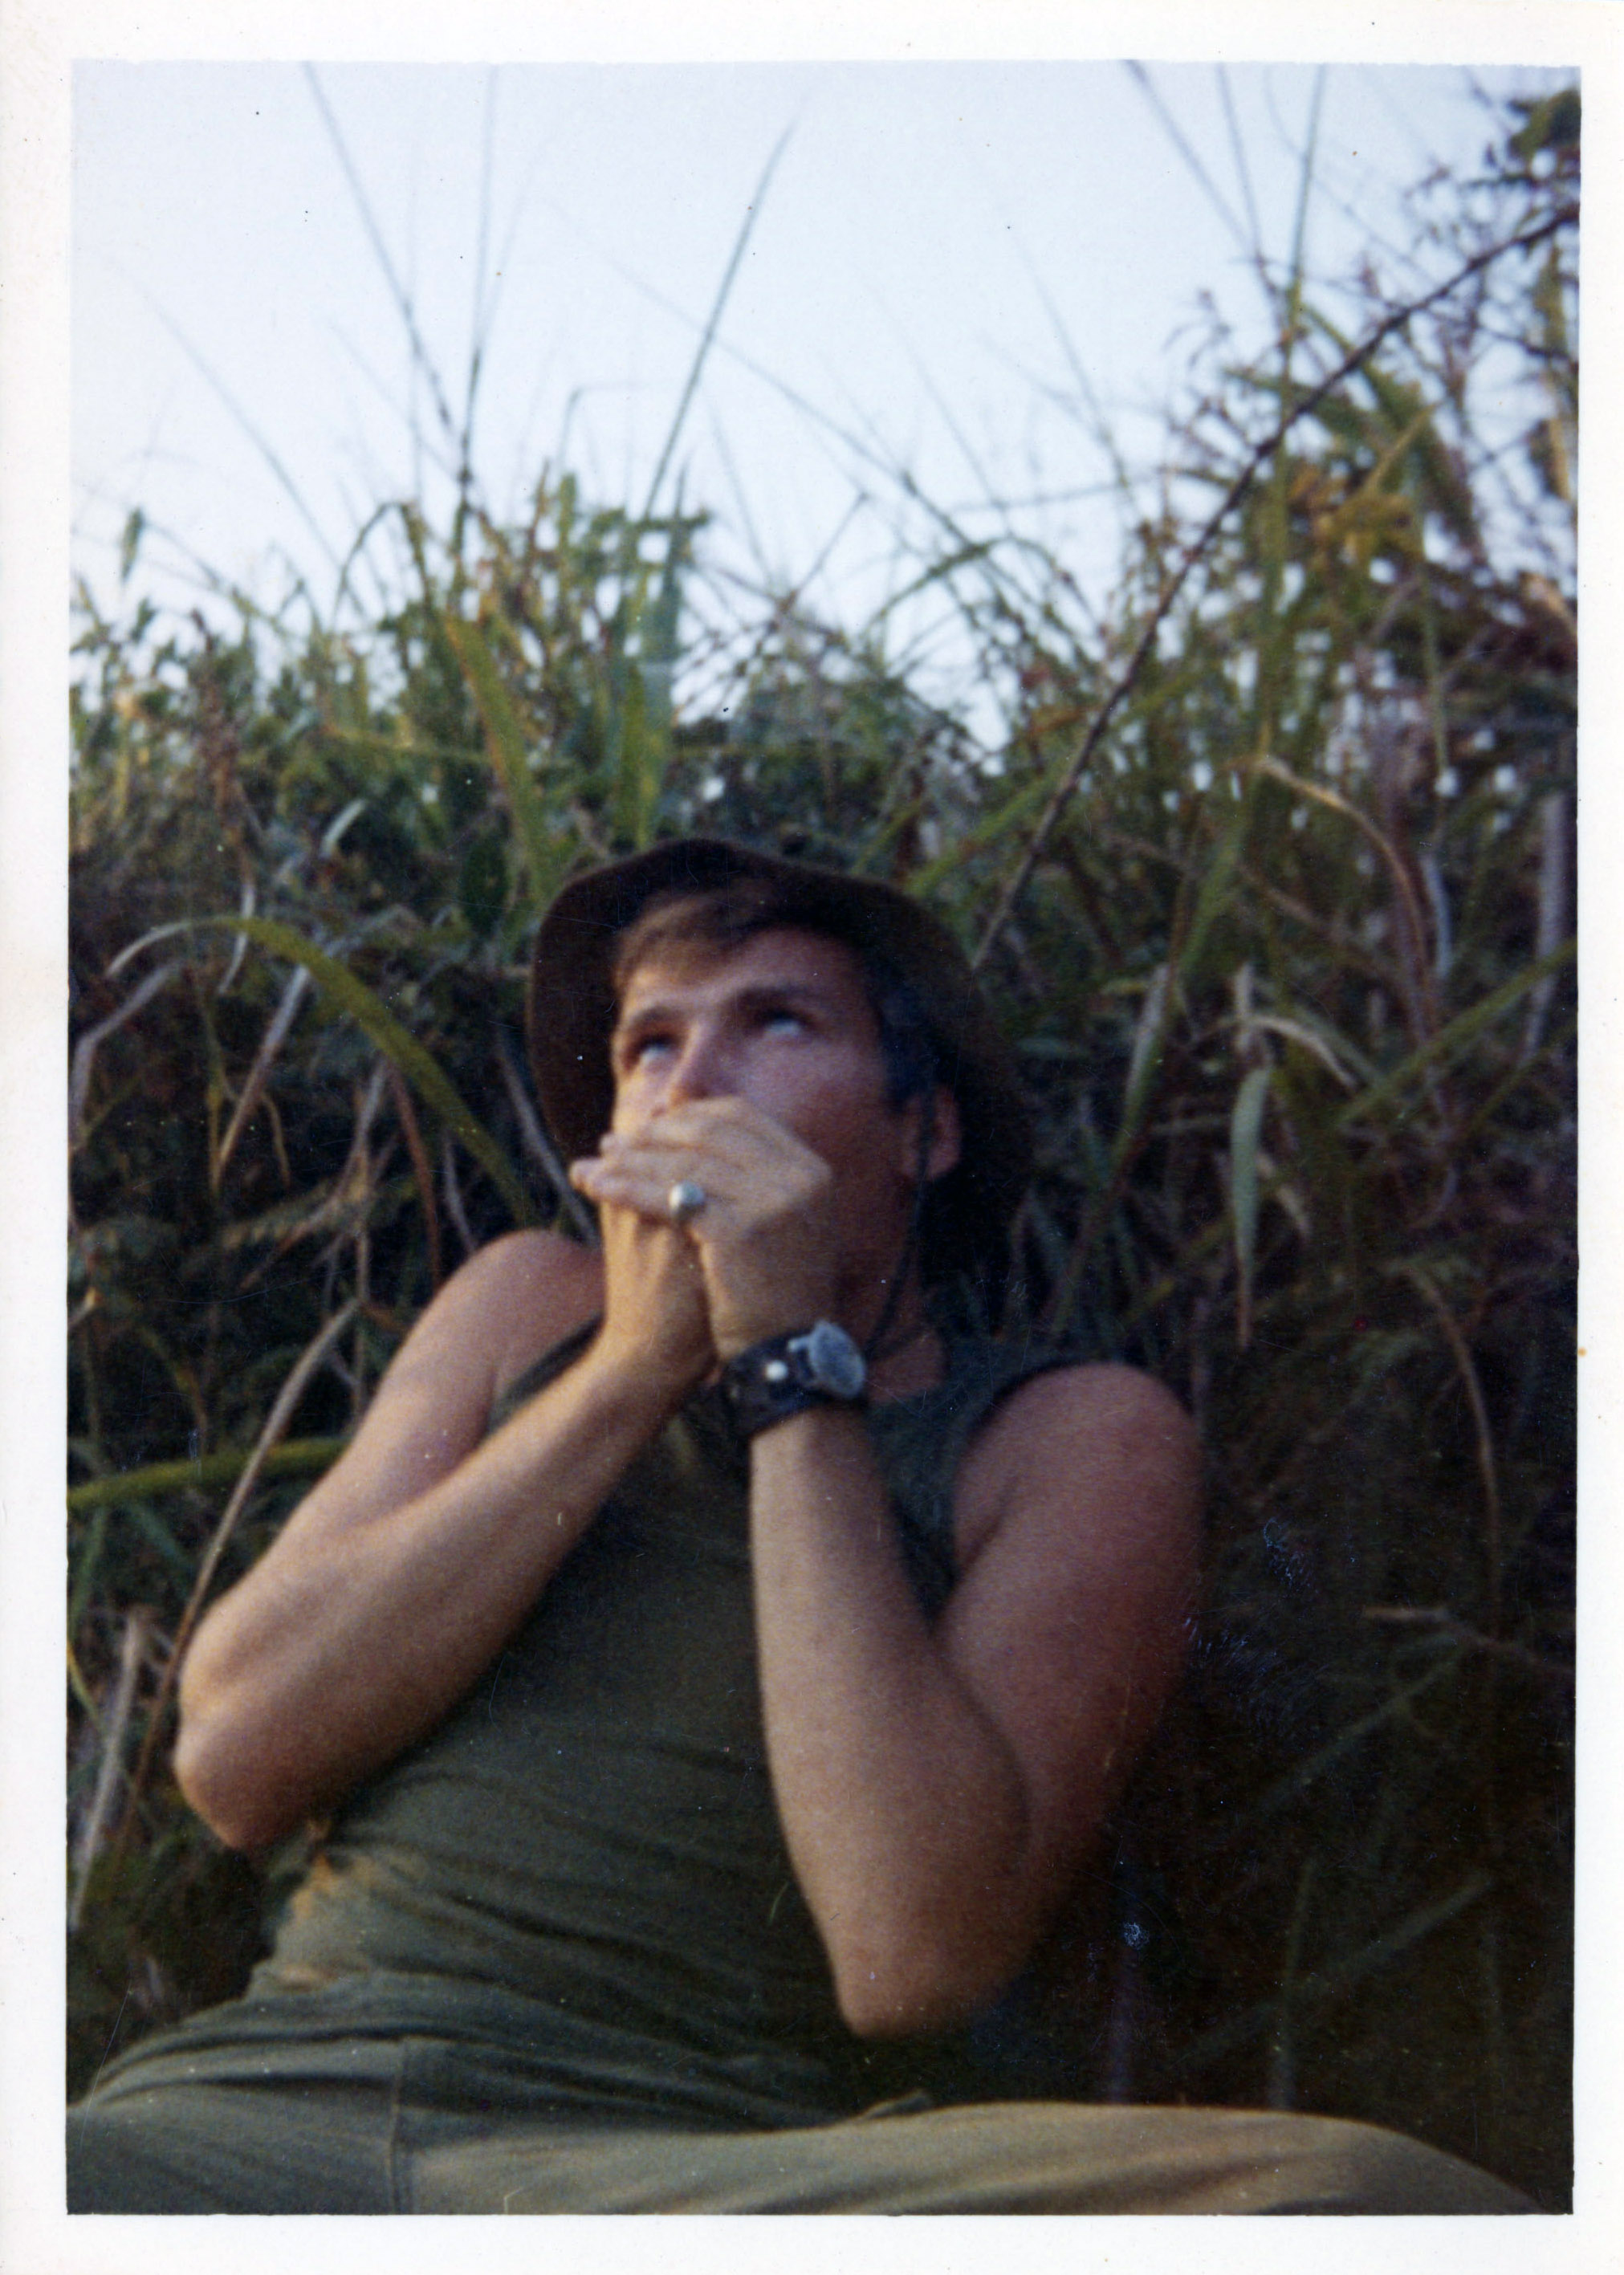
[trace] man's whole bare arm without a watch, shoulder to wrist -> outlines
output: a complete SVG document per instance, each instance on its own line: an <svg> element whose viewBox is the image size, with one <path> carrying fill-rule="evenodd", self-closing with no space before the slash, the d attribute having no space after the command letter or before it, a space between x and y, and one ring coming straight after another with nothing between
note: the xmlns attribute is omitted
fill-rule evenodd
<svg viewBox="0 0 1624 2275"><path fill-rule="evenodd" d="M669 1263L676 1242L651 1231L644 1249ZM705 1372L694 1304L644 1306L664 1342L605 1322L484 1438L503 1381L591 1317L600 1288L596 1258L541 1233L464 1265L343 1458L209 1611L182 1670L175 1770L225 1840L280 1838L432 1729Z"/></svg>

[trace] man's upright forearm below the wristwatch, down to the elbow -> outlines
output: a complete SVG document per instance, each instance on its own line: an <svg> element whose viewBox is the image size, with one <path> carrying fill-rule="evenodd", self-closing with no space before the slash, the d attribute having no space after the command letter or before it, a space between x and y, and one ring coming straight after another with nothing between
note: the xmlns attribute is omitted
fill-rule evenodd
<svg viewBox="0 0 1624 2275"><path fill-rule="evenodd" d="M1019 1763L919 1611L855 1415L764 1431L751 1499L773 1790L842 2009L955 2020L1035 1934Z"/></svg>

